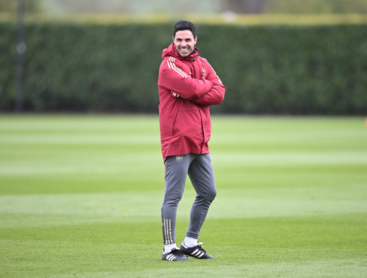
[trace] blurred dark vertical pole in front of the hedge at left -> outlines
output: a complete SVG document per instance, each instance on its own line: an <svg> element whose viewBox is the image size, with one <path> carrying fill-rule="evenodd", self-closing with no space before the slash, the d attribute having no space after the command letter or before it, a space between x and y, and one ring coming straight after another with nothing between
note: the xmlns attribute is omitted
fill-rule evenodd
<svg viewBox="0 0 367 278"><path fill-rule="evenodd" d="M22 113L23 111L23 54L26 49L24 42L24 0L18 0L17 9L17 77L16 77L16 100L15 112Z"/></svg>

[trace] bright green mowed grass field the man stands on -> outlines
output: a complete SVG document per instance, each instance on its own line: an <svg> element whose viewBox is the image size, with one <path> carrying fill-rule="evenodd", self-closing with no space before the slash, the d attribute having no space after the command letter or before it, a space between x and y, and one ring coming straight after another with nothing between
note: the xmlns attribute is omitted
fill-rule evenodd
<svg viewBox="0 0 367 278"><path fill-rule="evenodd" d="M367 277L363 117L212 116L210 149L216 259L162 261L157 116L0 116L0 277Z"/></svg>

